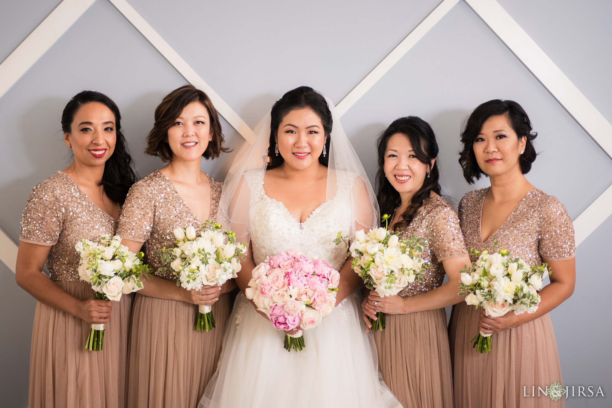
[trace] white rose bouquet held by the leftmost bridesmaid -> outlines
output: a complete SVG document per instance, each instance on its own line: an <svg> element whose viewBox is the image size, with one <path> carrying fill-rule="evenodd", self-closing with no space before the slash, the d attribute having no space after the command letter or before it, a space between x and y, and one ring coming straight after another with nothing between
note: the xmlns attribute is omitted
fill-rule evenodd
<svg viewBox="0 0 612 408"><path fill-rule="evenodd" d="M129 251L119 236L103 234L100 243L81 239L75 249L81 255L78 275L91 284L95 299L119 302L122 294L142 289L144 275L151 276L151 269L142 262L144 254ZM104 324L92 324L85 348L101 351L103 343Z"/></svg>

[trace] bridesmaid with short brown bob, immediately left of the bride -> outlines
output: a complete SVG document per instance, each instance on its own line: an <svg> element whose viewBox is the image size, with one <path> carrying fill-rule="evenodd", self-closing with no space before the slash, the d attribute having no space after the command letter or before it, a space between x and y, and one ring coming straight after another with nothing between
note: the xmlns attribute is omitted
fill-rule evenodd
<svg viewBox="0 0 612 408"><path fill-rule="evenodd" d="M187 291L176 277L157 270L156 250L176 243L172 230L215 220L222 183L200 170L201 158L229 149L209 97L191 85L163 98L145 152L168 165L144 177L130 190L118 234L131 251L140 251L155 278L138 291L132 315L127 404L130 407L195 408L211 379L231 311L233 280L222 287ZM217 327L198 332L196 305L213 305Z"/></svg>

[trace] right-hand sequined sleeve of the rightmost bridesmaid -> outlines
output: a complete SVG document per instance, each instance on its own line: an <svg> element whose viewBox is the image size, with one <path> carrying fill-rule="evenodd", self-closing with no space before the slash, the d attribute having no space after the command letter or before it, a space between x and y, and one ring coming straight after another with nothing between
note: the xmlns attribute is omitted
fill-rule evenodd
<svg viewBox="0 0 612 408"><path fill-rule="evenodd" d="M576 254L572 218L565 206L553 196L543 200L539 252L543 258L562 261Z"/></svg>

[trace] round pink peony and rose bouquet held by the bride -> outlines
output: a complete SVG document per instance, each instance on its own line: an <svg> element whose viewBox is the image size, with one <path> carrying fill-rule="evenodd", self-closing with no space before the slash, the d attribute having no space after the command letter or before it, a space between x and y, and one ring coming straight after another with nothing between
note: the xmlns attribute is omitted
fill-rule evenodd
<svg viewBox="0 0 612 408"><path fill-rule="evenodd" d="M285 335L285 349L297 352L304 348L302 330L316 327L334 310L339 282L340 273L323 259L311 261L288 250L253 269L246 295L278 330L298 329Z"/></svg>

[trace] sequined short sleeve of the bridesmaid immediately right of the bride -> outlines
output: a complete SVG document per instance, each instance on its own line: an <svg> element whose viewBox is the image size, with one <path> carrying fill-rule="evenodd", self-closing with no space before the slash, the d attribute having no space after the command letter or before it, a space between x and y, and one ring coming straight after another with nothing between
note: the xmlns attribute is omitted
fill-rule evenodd
<svg viewBox="0 0 612 408"><path fill-rule="evenodd" d="M430 231L433 237L429 239L429 245L438 262L467 255L455 210L450 206L439 207L432 215Z"/></svg>

